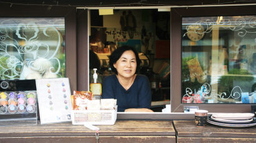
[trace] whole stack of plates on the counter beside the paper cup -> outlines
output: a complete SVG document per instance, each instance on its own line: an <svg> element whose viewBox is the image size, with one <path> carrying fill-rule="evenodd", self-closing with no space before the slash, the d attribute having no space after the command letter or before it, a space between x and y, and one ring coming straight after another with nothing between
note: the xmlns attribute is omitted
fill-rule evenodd
<svg viewBox="0 0 256 143"><path fill-rule="evenodd" d="M253 113L214 113L207 121L222 127L250 127L256 125Z"/></svg>

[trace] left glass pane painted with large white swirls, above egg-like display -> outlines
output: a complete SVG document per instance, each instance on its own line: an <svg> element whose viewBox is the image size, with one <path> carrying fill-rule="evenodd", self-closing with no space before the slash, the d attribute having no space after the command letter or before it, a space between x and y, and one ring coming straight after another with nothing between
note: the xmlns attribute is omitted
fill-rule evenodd
<svg viewBox="0 0 256 143"><path fill-rule="evenodd" d="M0 79L66 76L64 34L64 18L0 18Z"/></svg>

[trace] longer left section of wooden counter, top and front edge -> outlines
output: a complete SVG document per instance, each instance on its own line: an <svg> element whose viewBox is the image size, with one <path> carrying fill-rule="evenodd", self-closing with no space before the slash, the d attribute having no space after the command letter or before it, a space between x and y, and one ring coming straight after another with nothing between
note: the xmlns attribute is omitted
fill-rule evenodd
<svg viewBox="0 0 256 143"><path fill-rule="evenodd" d="M113 126L97 127L99 142L175 142L172 121L116 121ZM1 126L0 142L96 142L95 133L71 122Z"/></svg>

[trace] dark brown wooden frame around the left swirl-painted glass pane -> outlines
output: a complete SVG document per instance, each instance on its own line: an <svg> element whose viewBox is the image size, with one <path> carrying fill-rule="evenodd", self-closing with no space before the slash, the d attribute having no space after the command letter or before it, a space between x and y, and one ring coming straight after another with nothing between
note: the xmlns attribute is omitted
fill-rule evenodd
<svg viewBox="0 0 256 143"><path fill-rule="evenodd" d="M66 77L71 91L77 89L76 7L1 4L0 17L64 17Z"/></svg>

